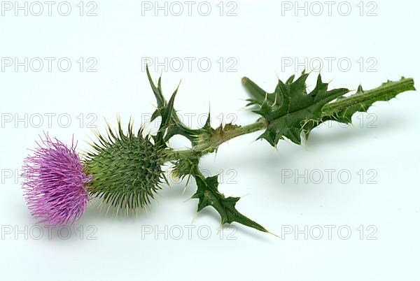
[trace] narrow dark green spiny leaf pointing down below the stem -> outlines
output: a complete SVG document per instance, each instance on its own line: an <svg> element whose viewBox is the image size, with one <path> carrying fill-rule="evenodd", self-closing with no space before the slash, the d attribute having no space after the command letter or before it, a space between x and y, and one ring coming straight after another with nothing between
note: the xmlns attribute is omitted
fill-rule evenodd
<svg viewBox="0 0 420 281"><path fill-rule="evenodd" d="M239 222L246 226L258 229L259 231L268 232L260 224L254 222L252 219L242 215L235 208L239 197L225 197L221 192L218 191L218 175L214 175L209 178L205 178L204 175L195 168L193 171L195 182L197 182L197 192L191 197L198 199L197 212L207 206L211 206L221 215L222 224L231 224L232 222Z"/></svg>

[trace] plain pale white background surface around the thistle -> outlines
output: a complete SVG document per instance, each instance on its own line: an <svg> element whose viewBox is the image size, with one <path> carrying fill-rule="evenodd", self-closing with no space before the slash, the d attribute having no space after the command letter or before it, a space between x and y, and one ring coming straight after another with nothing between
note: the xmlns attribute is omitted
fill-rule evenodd
<svg viewBox="0 0 420 281"><path fill-rule="evenodd" d="M225 122L232 116L237 124L253 122L257 116L244 110L247 96L241 77L247 75L271 92L277 76L286 79L302 71L304 66L296 62L305 58L314 64L314 58L323 60L321 73L332 81L331 87L356 89L361 83L370 89L401 75L420 79L418 1L349 1L341 4L341 10L342 2L337 1L331 15L322 1L321 15L316 15L319 5L310 2L306 11L297 10L295 15L294 1L225 1L221 15L219 2L209 2L207 16L200 15L205 7L197 10L200 1L191 15L184 2L181 15L175 15L179 6L170 3L167 15L165 10L155 15L154 1L97 1L92 12L96 16L85 15L95 7L87 1L82 16L78 1L69 1L68 16L59 15L60 2L52 6L50 16L46 4L36 16L38 7L27 3L25 16L24 10L15 15L15 7L8 10L2 2L2 280L419 280L420 97L416 92L375 103L369 114L356 115L353 127L333 124L316 129L304 147L281 141L274 150L265 141L253 142L257 133L230 141L216 157L203 159L202 169L212 174L221 171L222 192L247 195L237 204L239 211L282 238L239 224L233 225L236 230L223 229L221 236L217 213L207 208L195 215L197 201L186 201L195 184L190 183L183 194L183 182L163 187L150 210L138 217L105 215L90 206L78 222L83 233L73 232L65 239L52 230L48 238L44 229L41 239L35 239L36 222L22 198L22 179L16 178L27 148L35 146L42 131L67 143L74 135L79 148L86 148L94 136L88 125L102 130L104 118L115 125L118 114L125 124L132 116L139 127L155 104L144 57L164 64L167 58L167 69L151 65L155 79L162 73L167 97L182 79L175 106L184 117L195 115L192 126L200 124L198 117L207 113L209 105L214 126L221 116ZM290 5L291 10L285 9ZM150 6L152 10L145 9ZM345 16L347 6L351 12ZM65 13L66 7L61 8ZM55 58L51 71L45 57ZM195 59L192 69L186 57ZM8 58L19 62L28 58L27 71L25 66L17 70L15 64L6 66ZM44 62L39 72L34 58ZM71 61L69 71L58 68L60 58ZM81 72L80 58L85 62ZM93 60L88 63L88 58ZM325 58L333 58L330 67ZM181 71L176 64L180 59ZM197 66L199 59L211 62L209 71ZM290 59L295 61L291 66L286 63ZM97 62L93 68L97 71L87 72L92 62ZM313 74L309 87L315 78ZM172 145L187 143L174 138ZM328 169L335 169L330 182ZM361 183L360 170L365 175ZM316 183L318 171L324 177L321 183ZM346 174L339 178L339 171ZM284 176L288 172L292 178ZM304 173L306 177L295 179ZM344 184L348 173L351 180ZM376 183L369 184L372 175ZM331 239L325 225L335 227ZM307 227L308 238L304 233L297 238L295 232L285 233L288 226ZM351 229L348 239L337 233L340 226L342 236ZM319 227L324 233L316 240ZM183 235L177 240L179 229ZM370 238L376 240L368 239L372 232Z"/></svg>

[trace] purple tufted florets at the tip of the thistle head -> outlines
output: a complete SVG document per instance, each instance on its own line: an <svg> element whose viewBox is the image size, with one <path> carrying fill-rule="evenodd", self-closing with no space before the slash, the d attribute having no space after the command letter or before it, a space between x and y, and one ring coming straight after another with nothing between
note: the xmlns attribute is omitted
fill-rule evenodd
<svg viewBox="0 0 420 281"><path fill-rule="evenodd" d="M74 224L85 211L88 195L83 165L76 152L77 143L67 147L48 134L41 137L33 155L24 160L25 200L39 223L54 226Z"/></svg>

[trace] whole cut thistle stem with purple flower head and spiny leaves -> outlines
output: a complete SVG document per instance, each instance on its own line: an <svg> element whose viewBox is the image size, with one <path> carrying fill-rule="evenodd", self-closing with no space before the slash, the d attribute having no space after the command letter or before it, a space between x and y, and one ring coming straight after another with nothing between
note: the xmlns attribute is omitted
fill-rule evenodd
<svg viewBox="0 0 420 281"><path fill-rule="evenodd" d="M202 174L201 157L216 152L219 145L232 138L255 131L262 131L258 139L274 147L285 139L301 144L311 130L323 122L351 123L354 113L367 111L372 103L389 101L402 92L414 90L412 78L401 78L367 91L359 86L355 94L347 95L351 92L349 89L328 89L328 83L318 75L314 89L309 91L306 85L309 74L303 72L297 78L292 75L284 82L279 80L274 92L269 93L243 78L250 96L247 106L258 115L255 122L244 126L221 124L213 128L209 113L202 128L191 129L179 120L174 109L178 88L167 101L162 93L161 78L155 84L148 69L146 72L158 103L151 119L161 118L157 133L144 136L142 127L134 133L132 122L124 133L118 121L117 131L108 127L106 136L97 135L83 162L78 159L73 145L67 149L48 138L47 149L38 150L35 157L25 160L28 178L24 185L25 196L35 217L56 224L74 222L85 210L87 194L91 198L98 197L117 211L144 209L163 182L167 182L161 167L169 163L177 177L195 180L197 192L192 198L198 199L197 212L212 207L221 216L222 224L237 222L269 232L237 210L239 197L226 197L218 191L217 175ZM174 150L169 147L168 141L176 135L188 138L191 148Z"/></svg>

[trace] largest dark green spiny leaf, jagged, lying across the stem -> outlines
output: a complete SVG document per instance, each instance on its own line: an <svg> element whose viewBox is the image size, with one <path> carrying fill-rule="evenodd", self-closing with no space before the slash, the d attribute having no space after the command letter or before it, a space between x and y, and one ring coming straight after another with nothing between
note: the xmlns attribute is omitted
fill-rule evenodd
<svg viewBox="0 0 420 281"><path fill-rule="evenodd" d="M294 75L286 82L279 80L271 94L264 92L248 78L242 80L252 96L248 105L258 105L259 108L253 112L269 122L265 132L258 138L265 138L274 147L283 138L300 144L304 125L321 121L323 106L349 92L345 88L328 91L328 84L322 82L321 75L318 75L316 87L307 93L305 82L308 75L303 72L296 80Z"/></svg>

